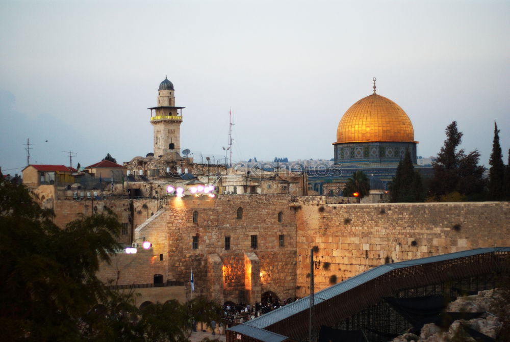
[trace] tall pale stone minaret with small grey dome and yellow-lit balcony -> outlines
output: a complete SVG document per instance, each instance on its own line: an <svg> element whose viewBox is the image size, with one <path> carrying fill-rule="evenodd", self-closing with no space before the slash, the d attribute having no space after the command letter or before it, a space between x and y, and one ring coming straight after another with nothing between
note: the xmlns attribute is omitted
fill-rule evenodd
<svg viewBox="0 0 510 342"><path fill-rule="evenodd" d="M158 107L150 109L150 123L154 126L154 155L181 151L182 109L175 107L173 84L165 80L158 89ZM155 110L152 112L152 110Z"/></svg>

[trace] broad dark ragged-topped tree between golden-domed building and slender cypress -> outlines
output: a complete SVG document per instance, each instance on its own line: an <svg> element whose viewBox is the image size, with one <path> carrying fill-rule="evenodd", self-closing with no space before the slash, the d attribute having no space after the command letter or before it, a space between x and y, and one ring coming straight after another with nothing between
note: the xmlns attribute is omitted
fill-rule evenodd
<svg viewBox="0 0 510 342"><path fill-rule="evenodd" d="M485 182L483 166L478 166L480 154L477 150L464 153L464 149L456 151L462 142L462 132L457 130L457 122L453 121L446 127L446 140L438 159L432 163L434 174L430 180L430 195L439 199L451 192L458 192L471 198L483 192Z"/></svg>

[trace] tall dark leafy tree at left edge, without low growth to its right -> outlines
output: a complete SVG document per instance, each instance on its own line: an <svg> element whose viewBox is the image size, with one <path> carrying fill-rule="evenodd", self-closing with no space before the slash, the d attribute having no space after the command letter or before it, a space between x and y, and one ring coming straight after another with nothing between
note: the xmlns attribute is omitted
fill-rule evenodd
<svg viewBox="0 0 510 342"><path fill-rule="evenodd" d="M0 177L0 331L5 340L80 340L98 303L118 296L96 277L118 250L109 213L57 227L22 185Z"/></svg>

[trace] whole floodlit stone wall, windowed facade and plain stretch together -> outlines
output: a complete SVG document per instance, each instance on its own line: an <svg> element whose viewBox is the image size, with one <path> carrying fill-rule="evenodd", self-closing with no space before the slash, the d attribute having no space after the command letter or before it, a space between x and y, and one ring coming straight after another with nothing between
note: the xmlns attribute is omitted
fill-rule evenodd
<svg viewBox="0 0 510 342"><path fill-rule="evenodd" d="M316 250L319 291L331 284L331 276L340 282L385 263L510 246L508 202L327 204L326 200L285 194L170 197L164 209L135 230L135 239L144 236L152 242L147 268L166 270L161 271L165 281L184 282L188 298L193 270L195 295L235 303L260 300L268 291L281 300L307 296L311 248ZM255 248L251 235L257 235ZM230 249L225 249L225 237L230 238ZM142 255L120 256L125 264L123 281L150 281L142 270L143 281L137 279L136 268L143 268L143 262L127 261Z"/></svg>

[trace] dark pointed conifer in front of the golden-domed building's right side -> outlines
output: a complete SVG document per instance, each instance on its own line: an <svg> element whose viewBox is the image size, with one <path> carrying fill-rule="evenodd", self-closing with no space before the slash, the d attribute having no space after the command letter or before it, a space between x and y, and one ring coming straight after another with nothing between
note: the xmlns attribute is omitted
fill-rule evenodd
<svg viewBox="0 0 510 342"><path fill-rule="evenodd" d="M421 175L414 169L409 150L398 163L397 173L390 184L390 195L392 202L421 202L424 199Z"/></svg>

